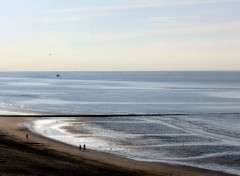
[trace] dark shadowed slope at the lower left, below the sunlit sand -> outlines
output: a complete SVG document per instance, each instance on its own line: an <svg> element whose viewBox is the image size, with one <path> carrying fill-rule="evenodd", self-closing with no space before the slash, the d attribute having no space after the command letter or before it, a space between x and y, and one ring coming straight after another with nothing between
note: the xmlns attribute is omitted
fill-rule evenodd
<svg viewBox="0 0 240 176"><path fill-rule="evenodd" d="M118 167L75 159L38 143L20 143L6 136L0 136L0 143L3 175L136 175Z"/></svg>

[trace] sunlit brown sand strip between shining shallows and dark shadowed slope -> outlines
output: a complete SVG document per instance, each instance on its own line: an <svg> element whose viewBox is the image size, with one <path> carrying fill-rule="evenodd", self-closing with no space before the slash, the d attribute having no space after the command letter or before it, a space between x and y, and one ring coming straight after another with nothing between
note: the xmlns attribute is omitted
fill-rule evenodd
<svg viewBox="0 0 240 176"><path fill-rule="evenodd" d="M87 152L80 152L77 147L40 136L38 134L32 133L26 127L19 126L20 123L32 121L35 119L37 119L37 117L0 117L0 132L2 135L4 135L4 137L0 138L6 138L6 140L26 144L29 148L26 147L27 149L25 151L25 154L28 154L30 149L36 149L36 154L40 153L40 151L47 152L50 150L56 155L63 155L68 159L73 159L74 164L78 162L85 162L89 166L86 172L90 172L93 168L97 168L97 170L100 171L104 170L105 173L103 173L103 175L115 175L116 173L122 173L122 175L233 175L190 166L136 161L123 158L121 156L93 150L87 150ZM25 136L26 133L29 135L28 140ZM46 159L54 160L56 158L54 158L54 156L53 158L49 156L49 158L47 157ZM97 175L97 173L92 173L90 175ZM0 174L2 174L1 170ZM69 172L66 172L65 175L69 175Z"/></svg>

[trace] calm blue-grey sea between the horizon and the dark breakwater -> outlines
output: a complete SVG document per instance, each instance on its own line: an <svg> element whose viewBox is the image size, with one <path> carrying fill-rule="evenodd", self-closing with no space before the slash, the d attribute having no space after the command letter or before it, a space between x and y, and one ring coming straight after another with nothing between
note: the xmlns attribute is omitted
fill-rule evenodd
<svg viewBox="0 0 240 176"><path fill-rule="evenodd" d="M0 73L8 112L239 112L240 72ZM5 112L4 112L5 113Z"/></svg>

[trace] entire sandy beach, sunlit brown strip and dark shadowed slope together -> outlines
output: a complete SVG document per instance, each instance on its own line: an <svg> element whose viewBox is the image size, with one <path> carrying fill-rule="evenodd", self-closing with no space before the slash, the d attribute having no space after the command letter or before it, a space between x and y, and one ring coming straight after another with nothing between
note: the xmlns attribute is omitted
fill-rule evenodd
<svg viewBox="0 0 240 176"><path fill-rule="evenodd" d="M81 152L77 147L31 133L19 125L34 119L0 117L0 175L230 175L134 161L92 150Z"/></svg>

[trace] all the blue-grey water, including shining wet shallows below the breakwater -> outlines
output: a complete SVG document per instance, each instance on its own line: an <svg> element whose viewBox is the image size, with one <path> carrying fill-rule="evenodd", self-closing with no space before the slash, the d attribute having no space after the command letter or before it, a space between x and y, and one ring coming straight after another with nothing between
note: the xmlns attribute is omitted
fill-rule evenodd
<svg viewBox="0 0 240 176"><path fill-rule="evenodd" d="M0 114L80 114L25 125L135 160L240 175L240 72L0 72Z"/></svg>

